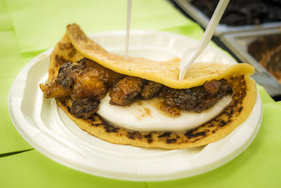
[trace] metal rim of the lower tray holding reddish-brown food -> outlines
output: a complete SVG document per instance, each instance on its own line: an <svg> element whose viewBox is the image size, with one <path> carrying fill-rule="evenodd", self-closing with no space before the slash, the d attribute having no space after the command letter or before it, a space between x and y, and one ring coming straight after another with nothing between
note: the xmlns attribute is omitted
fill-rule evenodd
<svg viewBox="0 0 281 188"><path fill-rule="evenodd" d="M232 51L237 58L247 62L256 68L253 79L263 86L269 95L277 97L281 95L281 84L273 77L259 62L247 51L247 46L259 36L270 34L281 34L280 28L260 29L257 31L246 31L223 34L220 39Z"/></svg>

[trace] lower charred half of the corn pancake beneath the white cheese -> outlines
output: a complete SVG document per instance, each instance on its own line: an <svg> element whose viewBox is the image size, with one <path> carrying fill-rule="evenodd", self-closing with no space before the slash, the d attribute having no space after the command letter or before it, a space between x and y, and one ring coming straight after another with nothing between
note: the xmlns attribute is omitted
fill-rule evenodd
<svg viewBox="0 0 281 188"><path fill-rule="evenodd" d="M214 137L216 134L221 135L228 126L233 126L233 121L236 121L237 116L244 110L243 100L247 96L247 81L244 75L231 76L227 81L233 88L233 101L230 102L230 105L211 121L204 123L198 128L181 133L126 130L108 123L97 114L91 117L91 119L77 119L70 113L67 113L67 115L86 132L116 144L138 147L162 147L165 149L198 147L208 144L211 137ZM63 109L71 109L72 102L70 98L64 100L57 99L57 102ZM221 137L218 137L216 140L219 139Z"/></svg>

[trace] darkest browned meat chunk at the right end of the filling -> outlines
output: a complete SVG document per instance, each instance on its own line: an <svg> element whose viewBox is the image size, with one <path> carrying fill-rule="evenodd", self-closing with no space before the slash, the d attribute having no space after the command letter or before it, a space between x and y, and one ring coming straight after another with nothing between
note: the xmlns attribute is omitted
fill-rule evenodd
<svg viewBox="0 0 281 188"><path fill-rule="evenodd" d="M230 93L232 93L230 85L226 80L221 79L207 81L203 86L188 89L165 88L161 96L164 96L163 105L167 107L202 112Z"/></svg>

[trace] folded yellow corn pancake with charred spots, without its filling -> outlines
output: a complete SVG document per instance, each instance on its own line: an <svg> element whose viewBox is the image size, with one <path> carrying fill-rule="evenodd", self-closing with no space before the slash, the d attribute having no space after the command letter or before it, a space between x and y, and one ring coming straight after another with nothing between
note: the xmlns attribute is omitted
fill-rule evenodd
<svg viewBox="0 0 281 188"><path fill-rule="evenodd" d="M69 56L73 48L59 48L62 43L74 46L75 55ZM53 58L52 58L53 57ZM71 62L76 58L90 58L115 72L139 76L157 81L172 88L200 86L211 79L226 79L233 88L233 100L216 118L192 130L182 132L136 131L117 127L103 120L98 114L91 119L79 119L70 113L71 98L56 99L58 105L82 130L107 142L136 147L183 149L207 145L231 133L247 119L256 102L256 83L249 74L254 68L247 64L222 65L219 63L196 63L190 67L183 81L178 80L178 61L157 62L144 58L124 60L124 56L108 53L91 41L77 25L67 26L67 34L55 46L51 55L49 76L54 79L63 62L54 57L63 57ZM58 58L57 58L58 59Z"/></svg>

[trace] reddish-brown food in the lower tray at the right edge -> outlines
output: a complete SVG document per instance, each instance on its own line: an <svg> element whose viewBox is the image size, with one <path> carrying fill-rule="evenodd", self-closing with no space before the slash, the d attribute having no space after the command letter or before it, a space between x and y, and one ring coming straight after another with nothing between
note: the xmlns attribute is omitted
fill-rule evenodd
<svg viewBox="0 0 281 188"><path fill-rule="evenodd" d="M281 83L281 34L260 36L248 52Z"/></svg>

